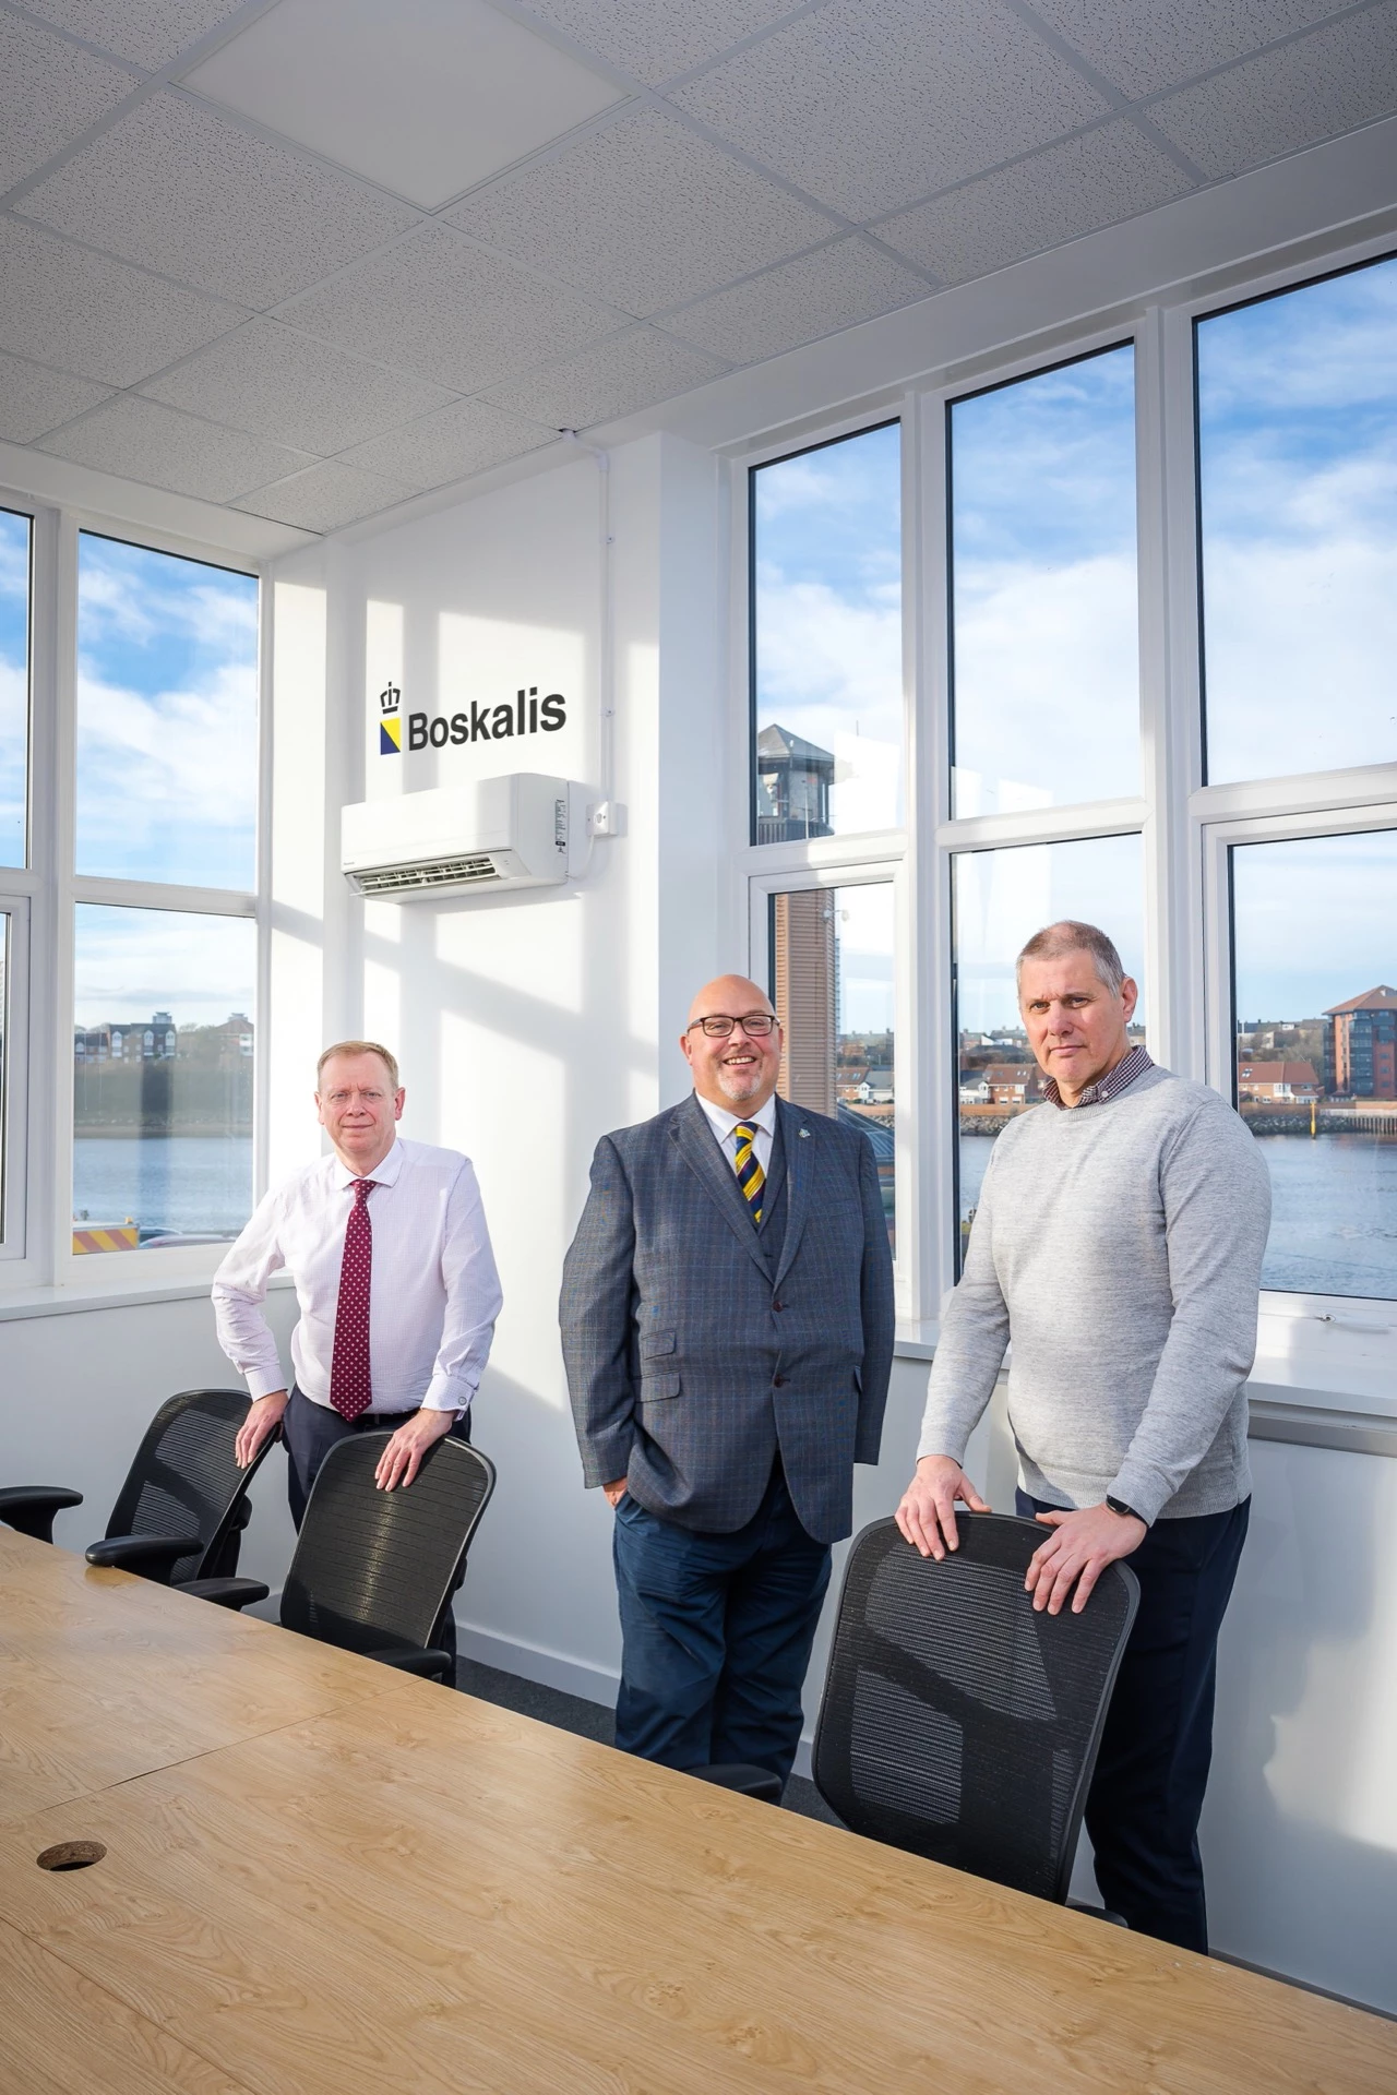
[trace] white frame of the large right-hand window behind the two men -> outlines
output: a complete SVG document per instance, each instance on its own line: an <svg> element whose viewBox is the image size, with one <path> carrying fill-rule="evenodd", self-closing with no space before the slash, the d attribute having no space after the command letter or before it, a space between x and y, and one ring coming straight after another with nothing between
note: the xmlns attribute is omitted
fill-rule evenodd
<svg viewBox="0 0 1397 2095"><path fill-rule="evenodd" d="M955 1276L955 1039L951 989L951 861L963 851L1139 834L1144 842L1150 1052L1232 1100L1232 974L1227 844L1265 836L1397 828L1397 765L1204 786L1198 453L1194 323L1269 293L1393 253L1393 235L1313 247L1276 268L1229 268L1213 287L1160 293L1112 325L1083 323L1030 352L966 358L945 381L882 392L859 411L806 419L779 438L727 455L731 471L731 807L741 809L731 853L731 930L746 928L750 966L767 978L767 895L863 878L899 880L899 1332L907 1351L934 1343L938 1305ZM951 819L949 649L949 406L991 385L1051 371L1131 341L1135 348L1135 501L1139 585L1139 796L1014 815ZM752 467L838 442L901 417L903 425L903 832L750 844L750 509ZM1380 817L1380 819L1374 819ZM1221 867L1221 872L1219 872ZM928 1131L930 1140L928 1140ZM1326 1360L1294 1399L1353 1404L1374 1385L1374 1328L1389 1305L1366 1297L1265 1293L1259 1362L1290 1349L1296 1316L1326 1326ZM1397 1305L1391 1305L1397 1328ZM1332 1341L1332 1343L1330 1343ZM1387 1376L1391 1381L1391 1376ZM1374 1399L1376 1402L1376 1399ZM1397 1399L1393 1404L1397 1410Z"/></svg>

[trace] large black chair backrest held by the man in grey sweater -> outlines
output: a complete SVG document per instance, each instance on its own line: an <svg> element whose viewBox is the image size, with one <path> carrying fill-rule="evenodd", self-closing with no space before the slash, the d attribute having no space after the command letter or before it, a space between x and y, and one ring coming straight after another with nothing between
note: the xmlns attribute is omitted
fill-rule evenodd
<svg viewBox="0 0 1397 2095"><path fill-rule="evenodd" d="M957 1529L943 1563L894 1521L857 1538L815 1783L855 1833L1064 1900L1139 1584L1116 1563L1081 1615L1035 1613L1047 1531L993 1513Z"/></svg>

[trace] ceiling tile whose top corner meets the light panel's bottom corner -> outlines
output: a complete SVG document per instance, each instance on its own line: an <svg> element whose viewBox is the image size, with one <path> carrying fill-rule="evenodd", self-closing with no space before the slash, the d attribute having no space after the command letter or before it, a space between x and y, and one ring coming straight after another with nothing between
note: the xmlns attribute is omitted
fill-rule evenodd
<svg viewBox="0 0 1397 2095"><path fill-rule="evenodd" d="M616 312L538 283L442 224L297 297L283 318L452 392L478 392L618 325Z"/></svg>

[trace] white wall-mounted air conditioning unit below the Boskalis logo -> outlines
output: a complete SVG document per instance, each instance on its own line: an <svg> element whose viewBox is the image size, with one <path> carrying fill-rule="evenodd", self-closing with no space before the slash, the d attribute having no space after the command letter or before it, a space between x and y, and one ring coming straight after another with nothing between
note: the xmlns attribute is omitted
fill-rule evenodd
<svg viewBox="0 0 1397 2095"><path fill-rule="evenodd" d="M360 800L339 815L339 865L356 895L501 895L586 869L589 790L515 771L473 786L438 786Z"/></svg>

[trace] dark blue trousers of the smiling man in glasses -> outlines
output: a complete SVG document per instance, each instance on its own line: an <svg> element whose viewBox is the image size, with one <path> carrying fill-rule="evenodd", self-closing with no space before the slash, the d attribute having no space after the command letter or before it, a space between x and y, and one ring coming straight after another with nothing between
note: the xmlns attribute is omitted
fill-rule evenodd
<svg viewBox="0 0 1397 2095"><path fill-rule="evenodd" d="M622 1678L616 1745L668 1768L750 1762L781 1781L800 1743L800 1686L829 1584L829 1544L796 1519L777 1462L731 1536L616 1508Z"/></svg>

